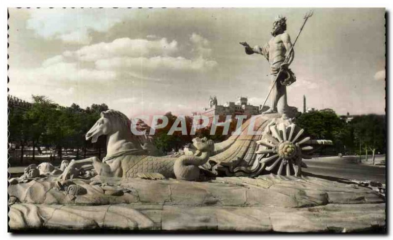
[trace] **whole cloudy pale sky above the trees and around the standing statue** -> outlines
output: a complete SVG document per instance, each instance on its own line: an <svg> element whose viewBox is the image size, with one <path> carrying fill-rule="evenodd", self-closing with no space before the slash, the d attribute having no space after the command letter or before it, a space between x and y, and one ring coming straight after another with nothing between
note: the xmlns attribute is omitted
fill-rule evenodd
<svg viewBox="0 0 393 240"><path fill-rule="evenodd" d="M264 45L274 18L292 41L304 8L9 9L9 94L63 106L106 103L129 117L191 115L247 96L263 103L269 63L239 42ZM288 104L337 114L385 113L385 10L316 8L294 48Z"/></svg>

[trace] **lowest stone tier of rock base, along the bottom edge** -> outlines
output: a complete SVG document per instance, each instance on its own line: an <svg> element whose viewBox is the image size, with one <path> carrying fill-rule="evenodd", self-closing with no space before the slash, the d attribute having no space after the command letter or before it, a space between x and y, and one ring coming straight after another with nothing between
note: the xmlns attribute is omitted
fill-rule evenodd
<svg viewBox="0 0 393 240"><path fill-rule="evenodd" d="M275 208L23 203L12 205L9 216L12 230L372 232L385 226L385 204Z"/></svg>

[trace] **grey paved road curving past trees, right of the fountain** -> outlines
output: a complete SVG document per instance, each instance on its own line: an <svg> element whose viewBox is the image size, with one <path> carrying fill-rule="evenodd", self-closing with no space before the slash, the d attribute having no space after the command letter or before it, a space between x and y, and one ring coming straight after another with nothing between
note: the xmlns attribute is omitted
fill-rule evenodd
<svg viewBox="0 0 393 240"><path fill-rule="evenodd" d="M354 160L355 157L351 156L303 160L308 166L308 168L303 168L303 172L349 180L386 182L386 168L359 164Z"/></svg>

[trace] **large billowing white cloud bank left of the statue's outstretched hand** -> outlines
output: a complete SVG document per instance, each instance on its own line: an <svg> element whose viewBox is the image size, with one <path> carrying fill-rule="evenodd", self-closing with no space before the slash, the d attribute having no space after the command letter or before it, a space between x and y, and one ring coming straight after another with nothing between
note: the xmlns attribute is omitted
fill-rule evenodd
<svg viewBox="0 0 393 240"><path fill-rule="evenodd" d="M195 47L194 52L197 53L193 58L178 56L179 47L176 40L168 42L166 38L156 40L119 38L110 43L102 42L75 51L64 51L62 55L45 60L42 63L43 68L37 71L46 73L56 71L52 73L56 77L62 72L69 73L70 76L62 77L66 79L74 79L72 73L79 71L80 73L74 75L79 77L83 75L83 80L87 80L84 73L86 75L88 73L90 79L112 79L115 77L113 75L115 71L120 75L161 81L160 75L163 73L170 75L175 72L205 72L214 69L218 63L209 57L203 57L209 55L207 52L211 51L204 48L209 44L208 40L193 34L190 41ZM80 61L93 62L95 68L80 68ZM70 68L69 71L66 70L67 67Z"/></svg>

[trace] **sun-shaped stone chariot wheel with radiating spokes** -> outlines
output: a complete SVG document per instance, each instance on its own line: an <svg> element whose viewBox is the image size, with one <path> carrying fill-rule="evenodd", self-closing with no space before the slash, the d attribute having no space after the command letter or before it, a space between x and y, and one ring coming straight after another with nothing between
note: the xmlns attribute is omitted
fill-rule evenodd
<svg viewBox="0 0 393 240"><path fill-rule="evenodd" d="M293 123L268 126L261 140L256 142L259 144L257 159L262 168L277 175L300 176L302 167L307 168L302 158L311 158L307 153L313 147L308 144L315 141L309 137L302 139L303 132L304 129Z"/></svg>

